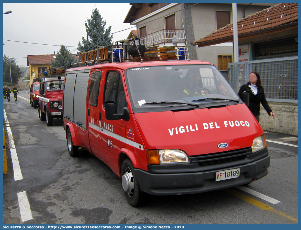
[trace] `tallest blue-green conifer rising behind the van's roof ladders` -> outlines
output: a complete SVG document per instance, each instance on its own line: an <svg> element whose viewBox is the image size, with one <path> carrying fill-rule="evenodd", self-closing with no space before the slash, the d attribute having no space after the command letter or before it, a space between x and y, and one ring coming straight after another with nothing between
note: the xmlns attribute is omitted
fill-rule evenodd
<svg viewBox="0 0 301 230"><path fill-rule="evenodd" d="M112 45L111 26L105 29L106 23L95 6L91 19L88 18L88 22L85 22L87 40L82 36L82 45L79 42L77 49L80 52L87 52L96 49L96 46Z"/></svg>

